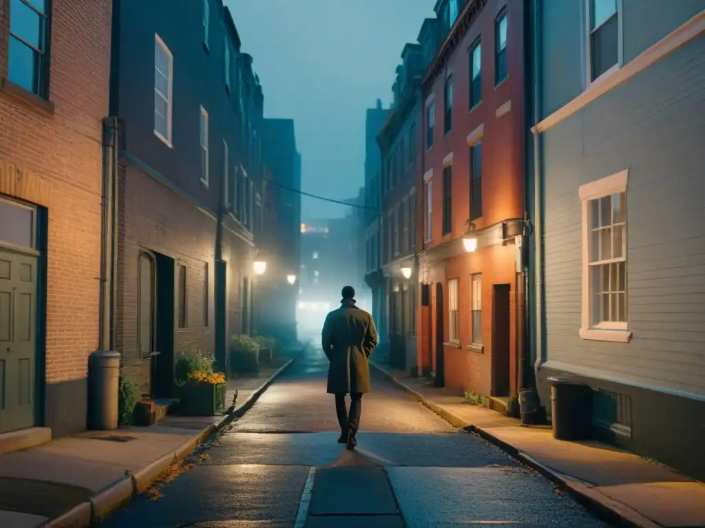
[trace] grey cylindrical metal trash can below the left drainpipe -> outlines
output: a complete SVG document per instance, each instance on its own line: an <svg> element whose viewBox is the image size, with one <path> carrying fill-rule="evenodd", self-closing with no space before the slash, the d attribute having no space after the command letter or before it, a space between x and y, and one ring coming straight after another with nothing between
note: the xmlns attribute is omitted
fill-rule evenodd
<svg viewBox="0 0 705 528"><path fill-rule="evenodd" d="M118 428L120 353L97 350L90 356L88 373L88 427L95 431Z"/></svg>

